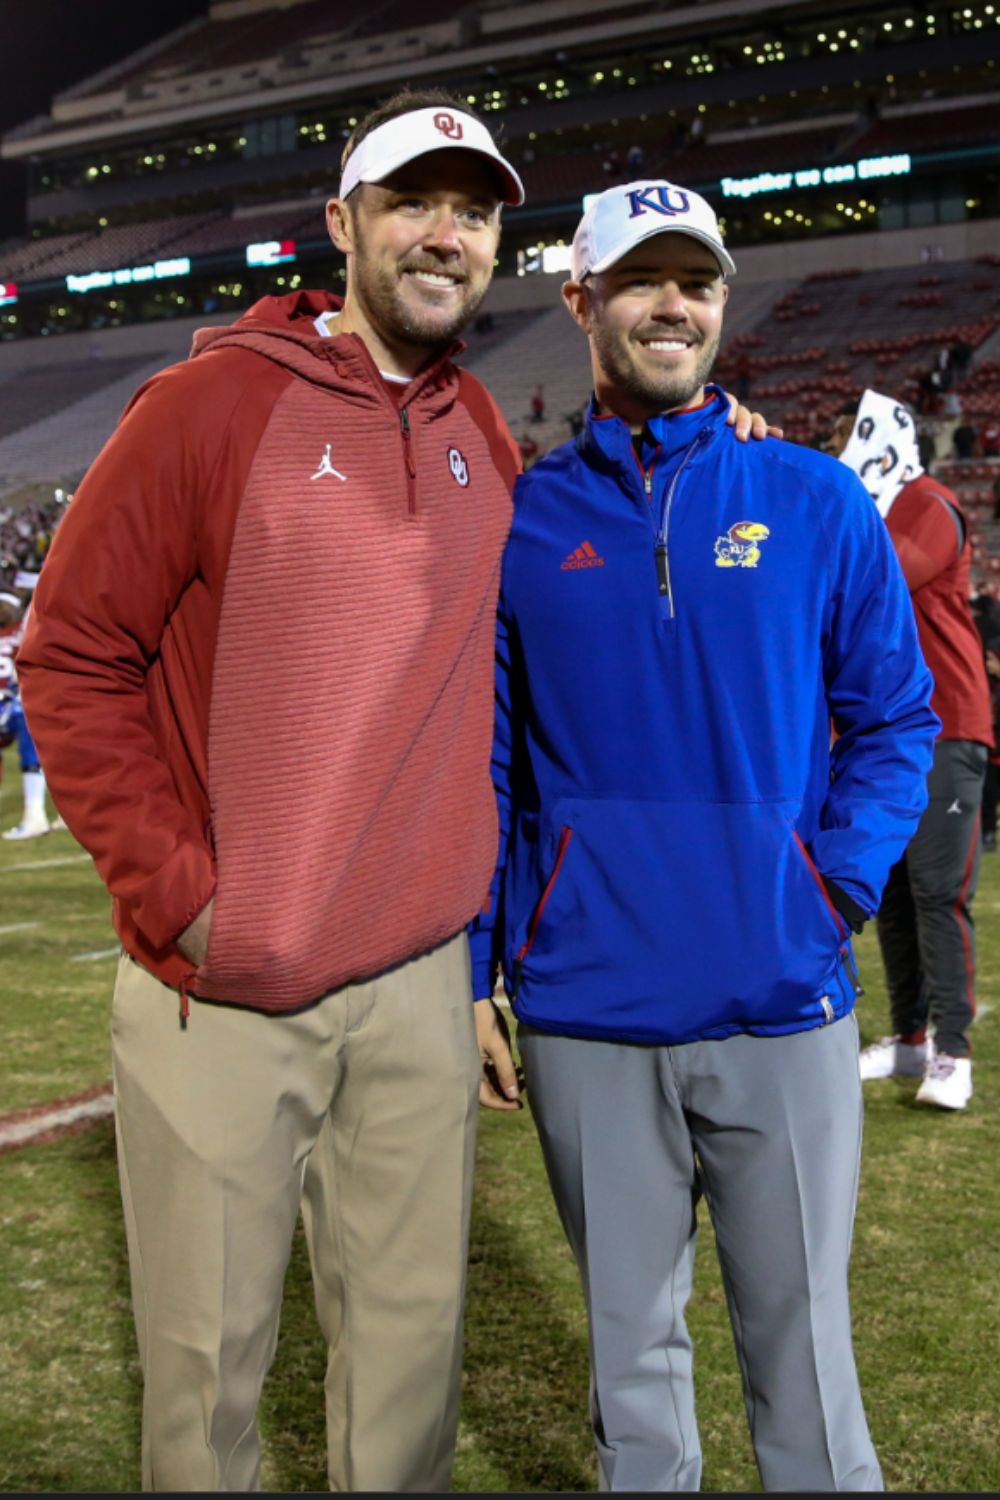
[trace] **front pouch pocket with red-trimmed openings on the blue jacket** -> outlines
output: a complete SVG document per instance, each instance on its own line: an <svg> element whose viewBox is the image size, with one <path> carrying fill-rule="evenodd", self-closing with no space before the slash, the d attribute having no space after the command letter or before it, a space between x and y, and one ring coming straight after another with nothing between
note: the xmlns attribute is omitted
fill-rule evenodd
<svg viewBox="0 0 1000 1500"><path fill-rule="evenodd" d="M640 1041L822 1018L846 933L796 816L795 802L553 804L508 870L519 1014Z"/></svg>

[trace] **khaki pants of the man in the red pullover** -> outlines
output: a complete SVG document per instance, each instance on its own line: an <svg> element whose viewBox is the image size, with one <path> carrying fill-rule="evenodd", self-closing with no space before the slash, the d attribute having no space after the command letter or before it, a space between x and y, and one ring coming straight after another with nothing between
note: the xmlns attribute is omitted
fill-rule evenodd
<svg viewBox="0 0 1000 1500"><path fill-rule="evenodd" d="M465 936L295 1014L192 1000L186 1030L121 958L112 1041L144 1488L259 1488L301 1203L331 1490L447 1490L480 1077Z"/></svg>

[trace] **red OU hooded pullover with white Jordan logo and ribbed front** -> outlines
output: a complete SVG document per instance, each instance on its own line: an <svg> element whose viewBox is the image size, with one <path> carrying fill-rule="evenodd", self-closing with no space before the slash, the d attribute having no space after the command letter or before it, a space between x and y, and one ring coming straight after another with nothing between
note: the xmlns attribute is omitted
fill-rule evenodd
<svg viewBox="0 0 1000 1500"><path fill-rule="evenodd" d="M316 333L339 306L267 297L136 393L18 656L126 951L259 1010L450 938L496 855L517 450L450 356L394 400L357 334ZM213 894L195 970L175 939Z"/></svg>

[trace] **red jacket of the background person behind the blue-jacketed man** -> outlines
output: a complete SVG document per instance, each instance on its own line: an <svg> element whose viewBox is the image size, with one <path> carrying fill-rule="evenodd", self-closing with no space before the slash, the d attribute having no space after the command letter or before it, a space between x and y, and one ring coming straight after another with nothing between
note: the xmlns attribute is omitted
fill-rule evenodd
<svg viewBox="0 0 1000 1500"><path fill-rule="evenodd" d="M993 746L990 684L969 608L972 546L958 496L930 474L900 490L886 516L934 678L942 740Z"/></svg>

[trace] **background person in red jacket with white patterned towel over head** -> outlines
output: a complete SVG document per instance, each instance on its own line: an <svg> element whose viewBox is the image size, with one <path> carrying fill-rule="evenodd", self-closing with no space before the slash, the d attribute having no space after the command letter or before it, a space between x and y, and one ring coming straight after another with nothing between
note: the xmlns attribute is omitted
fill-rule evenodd
<svg viewBox="0 0 1000 1500"><path fill-rule="evenodd" d="M990 687L969 608L966 518L952 490L924 471L913 418L889 396L867 390L859 405L847 405L828 452L861 476L885 516L942 720L930 802L879 910L892 1035L864 1048L861 1074L865 1080L922 1077L918 1102L960 1110L972 1098L972 902L982 783L993 747Z"/></svg>

